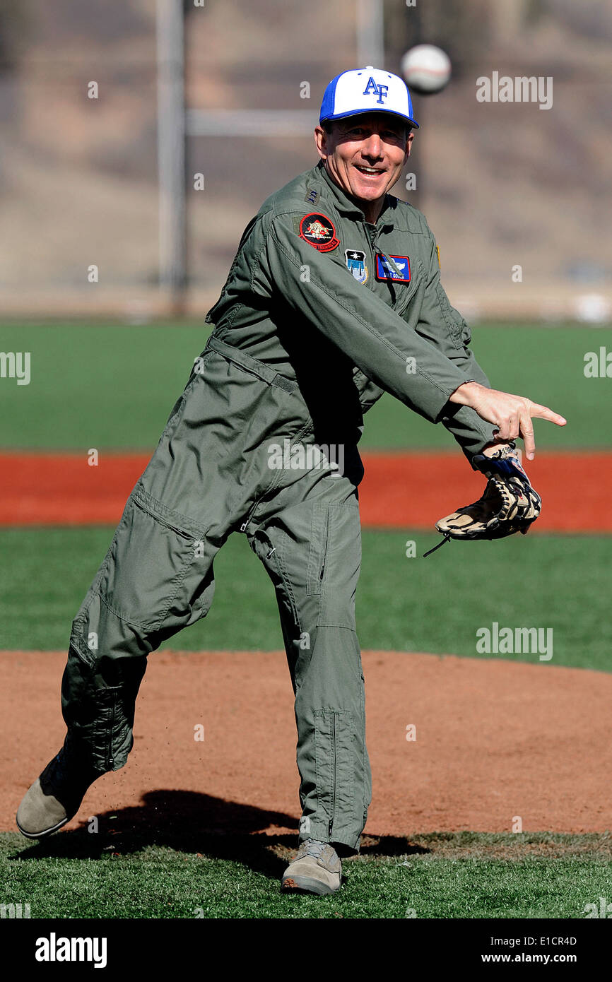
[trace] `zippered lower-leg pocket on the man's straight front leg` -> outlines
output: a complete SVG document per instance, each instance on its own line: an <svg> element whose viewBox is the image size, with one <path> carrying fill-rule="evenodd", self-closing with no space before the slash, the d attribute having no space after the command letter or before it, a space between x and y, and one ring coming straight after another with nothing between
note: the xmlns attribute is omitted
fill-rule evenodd
<svg viewBox="0 0 612 982"><path fill-rule="evenodd" d="M314 710L316 797L328 832L350 827L355 819L353 720L346 710Z"/></svg>

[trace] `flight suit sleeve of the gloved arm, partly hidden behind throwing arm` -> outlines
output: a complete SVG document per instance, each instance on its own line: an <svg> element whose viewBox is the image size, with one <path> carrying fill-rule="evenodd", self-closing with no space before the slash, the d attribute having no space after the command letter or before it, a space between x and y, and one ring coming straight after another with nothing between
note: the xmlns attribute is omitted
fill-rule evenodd
<svg viewBox="0 0 612 982"><path fill-rule="evenodd" d="M420 307L417 333L439 348L459 368L466 379L490 389L490 383L470 349L472 332L459 310L451 306L440 282L440 262L433 235L430 233L430 252L427 283ZM440 422L455 437L469 461L493 439L494 426L486 422L469 406L449 403Z"/></svg>

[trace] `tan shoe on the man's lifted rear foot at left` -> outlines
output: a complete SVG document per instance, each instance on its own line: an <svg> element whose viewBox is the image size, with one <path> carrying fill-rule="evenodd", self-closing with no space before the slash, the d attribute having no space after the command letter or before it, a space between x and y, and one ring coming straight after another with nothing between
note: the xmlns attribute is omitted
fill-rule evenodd
<svg viewBox="0 0 612 982"><path fill-rule="evenodd" d="M63 751L51 760L28 788L17 810L17 827L27 839L44 839L57 832L79 811L84 792L99 777L71 771Z"/></svg>

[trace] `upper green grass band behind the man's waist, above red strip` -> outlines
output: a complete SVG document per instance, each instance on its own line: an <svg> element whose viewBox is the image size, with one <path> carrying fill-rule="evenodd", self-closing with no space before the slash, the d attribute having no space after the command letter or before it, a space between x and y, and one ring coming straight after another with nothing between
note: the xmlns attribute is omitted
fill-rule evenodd
<svg viewBox="0 0 612 982"><path fill-rule="evenodd" d="M202 317L203 321L203 317ZM201 324L11 324L0 351L30 352L31 381L0 384L4 448L150 449L205 344ZM612 331L481 325L473 352L491 384L564 414L536 422L540 447L609 447L610 380L584 378L584 354L612 351ZM452 449L453 438L390 396L365 419L364 449Z"/></svg>

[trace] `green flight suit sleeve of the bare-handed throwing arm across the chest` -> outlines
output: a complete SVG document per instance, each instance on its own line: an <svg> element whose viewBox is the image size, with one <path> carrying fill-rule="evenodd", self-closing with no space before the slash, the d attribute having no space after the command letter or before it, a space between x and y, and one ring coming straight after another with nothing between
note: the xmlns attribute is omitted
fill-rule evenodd
<svg viewBox="0 0 612 982"><path fill-rule="evenodd" d="M280 291L374 385L437 422L449 396L469 380L461 365L420 337L370 290L363 290L340 263L302 239L300 217L298 212L273 215L256 259L252 288L268 296Z"/></svg>

